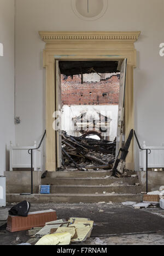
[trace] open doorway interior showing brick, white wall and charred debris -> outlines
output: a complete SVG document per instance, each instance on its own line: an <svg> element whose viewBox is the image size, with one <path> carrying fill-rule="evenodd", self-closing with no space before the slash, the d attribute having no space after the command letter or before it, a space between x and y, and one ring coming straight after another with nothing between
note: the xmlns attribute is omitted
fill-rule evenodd
<svg viewBox="0 0 164 256"><path fill-rule="evenodd" d="M127 59L56 60L58 169L113 163L125 137L126 69Z"/></svg>

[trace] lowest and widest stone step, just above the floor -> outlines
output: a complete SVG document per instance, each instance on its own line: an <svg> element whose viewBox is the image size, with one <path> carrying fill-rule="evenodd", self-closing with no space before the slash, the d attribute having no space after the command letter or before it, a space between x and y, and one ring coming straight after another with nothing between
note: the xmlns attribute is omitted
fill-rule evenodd
<svg viewBox="0 0 164 256"><path fill-rule="evenodd" d="M21 202L27 200L31 203L98 203L98 202L142 202L142 194L7 194L7 202Z"/></svg>

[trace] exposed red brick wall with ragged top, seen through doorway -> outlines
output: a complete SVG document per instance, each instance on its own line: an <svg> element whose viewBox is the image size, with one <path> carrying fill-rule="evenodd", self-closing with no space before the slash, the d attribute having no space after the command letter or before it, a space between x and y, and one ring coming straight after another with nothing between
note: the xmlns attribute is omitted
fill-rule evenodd
<svg viewBox="0 0 164 256"><path fill-rule="evenodd" d="M118 105L119 75L100 82L84 82L81 75L65 77L62 75L63 105Z"/></svg>

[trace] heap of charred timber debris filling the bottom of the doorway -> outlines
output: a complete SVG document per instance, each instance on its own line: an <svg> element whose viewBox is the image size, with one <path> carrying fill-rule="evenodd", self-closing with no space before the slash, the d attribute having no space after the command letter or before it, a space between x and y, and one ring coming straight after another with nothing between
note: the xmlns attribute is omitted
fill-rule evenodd
<svg viewBox="0 0 164 256"><path fill-rule="evenodd" d="M90 135L98 135L100 140L88 137ZM62 169L110 170L115 160L115 148L116 140L101 140L101 133L97 131L84 132L80 137L62 132Z"/></svg>

